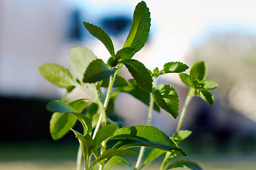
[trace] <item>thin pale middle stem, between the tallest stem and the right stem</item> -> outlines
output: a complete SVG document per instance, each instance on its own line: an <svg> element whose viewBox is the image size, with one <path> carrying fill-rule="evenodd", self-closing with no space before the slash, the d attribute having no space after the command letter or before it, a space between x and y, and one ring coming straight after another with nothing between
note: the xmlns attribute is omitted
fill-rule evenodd
<svg viewBox="0 0 256 170"><path fill-rule="evenodd" d="M153 78L153 87L155 87L156 84L157 84L157 78L155 78L155 79ZM150 106L149 106L150 108L149 108L149 111L148 111L148 123L147 123L147 125L150 125L152 111L153 111L153 106L154 106L154 98L152 96L152 93L150 93ZM138 169L138 167L140 166L140 162L143 159L144 152L145 152L145 147L141 147L140 148L140 154L138 156L138 160L136 162L134 170Z"/></svg>

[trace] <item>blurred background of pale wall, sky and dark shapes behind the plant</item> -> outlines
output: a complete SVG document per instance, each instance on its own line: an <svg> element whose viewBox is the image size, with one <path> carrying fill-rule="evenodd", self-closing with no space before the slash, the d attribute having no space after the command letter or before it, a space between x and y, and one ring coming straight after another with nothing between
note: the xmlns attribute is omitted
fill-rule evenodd
<svg viewBox="0 0 256 170"><path fill-rule="evenodd" d="M117 51L126 40L138 2L0 1L0 169L75 169L78 142L71 132L53 141L51 113L45 109L64 91L40 76L38 66L54 62L70 68L69 48L74 46L87 47L107 61L108 51L82 21L104 28ZM200 98L189 104L182 128L193 133L182 147L204 169L254 169L256 2L145 2L151 13L150 36L135 59L150 70L161 69L165 62L191 67L204 60L208 78L219 84L212 91L213 107ZM177 75L163 76L159 83L174 86L183 105L188 89ZM68 99L77 96L79 91L74 91ZM116 117L124 125L146 124L148 108L143 103L128 94L120 94L116 102ZM172 135L177 120L164 112L153 113L152 125Z"/></svg>

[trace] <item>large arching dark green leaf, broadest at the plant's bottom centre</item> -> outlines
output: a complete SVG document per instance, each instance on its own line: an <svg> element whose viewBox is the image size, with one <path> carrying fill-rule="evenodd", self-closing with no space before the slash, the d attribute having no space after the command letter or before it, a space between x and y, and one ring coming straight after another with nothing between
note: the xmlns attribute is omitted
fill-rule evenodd
<svg viewBox="0 0 256 170"><path fill-rule="evenodd" d="M120 128L108 138L108 141L109 140L121 140L118 142L118 147L124 146L124 148L126 148L125 145L128 147L148 146L167 151L175 150L182 155L186 155L175 142L169 139L165 132L153 126L135 125L130 128Z"/></svg>

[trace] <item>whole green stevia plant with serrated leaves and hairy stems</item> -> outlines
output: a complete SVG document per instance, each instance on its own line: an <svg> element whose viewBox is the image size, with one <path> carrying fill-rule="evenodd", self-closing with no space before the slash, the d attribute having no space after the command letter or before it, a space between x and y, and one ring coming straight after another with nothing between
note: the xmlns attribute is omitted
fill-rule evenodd
<svg viewBox="0 0 256 170"><path fill-rule="evenodd" d="M66 89L61 100L50 101L47 105L51 111L50 134L59 140L72 130L79 141L77 170L112 169L116 164L123 164L127 169L144 169L152 160L165 154L160 169L201 169L187 157L179 147L179 142L191 134L181 130L184 113L193 96L199 96L213 105L213 96L208 89L215 89L218 84L206 79L207 69L204 62L196 62L190 74L184 73L189 67L182 62L168 62L162 70L155 68L152 72L143 63L133 60L133 56L143 48L150 32L150 12L144 1L141 1L133 13L133 23L121 50L115 52L109 35L100 27L83 22L91 35L98 38L106 47L111 57L105 63L86 47L70 49L72 73L59 64L42 64L38 67L40 74L56 86ZM133 79L126 81L118 73L126 67ZM159 84L157 79L163 74L179 74L184 84L189 86L189 93L184 103L177 131L171 137L158 128L150 126L152 110L160 108L173 118L179 115L179 98L175 89L169 84ZM82 89L89 98L78 98L66 102L65 98L74 89ZM149 106L148 124L123 127L109 118L114 111L116 97L127 93ZM73 129L77 120L83 131ZM131 147L141 147L135 166L121 156L135 155ZM144 162L145 147L152 147ZM181 159L173 158L179 157Z"/></svg>

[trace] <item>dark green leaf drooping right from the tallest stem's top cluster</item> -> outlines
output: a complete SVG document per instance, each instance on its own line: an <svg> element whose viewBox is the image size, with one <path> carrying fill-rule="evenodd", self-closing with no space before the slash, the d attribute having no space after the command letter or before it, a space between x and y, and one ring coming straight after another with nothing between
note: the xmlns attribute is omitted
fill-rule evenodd
<svg viewBox="0 0 256 170"><path fill-rule="evenodd" d="M148 69L138 60L122 60L135 81L145 90L152 91L152 77Z"/></svg>

